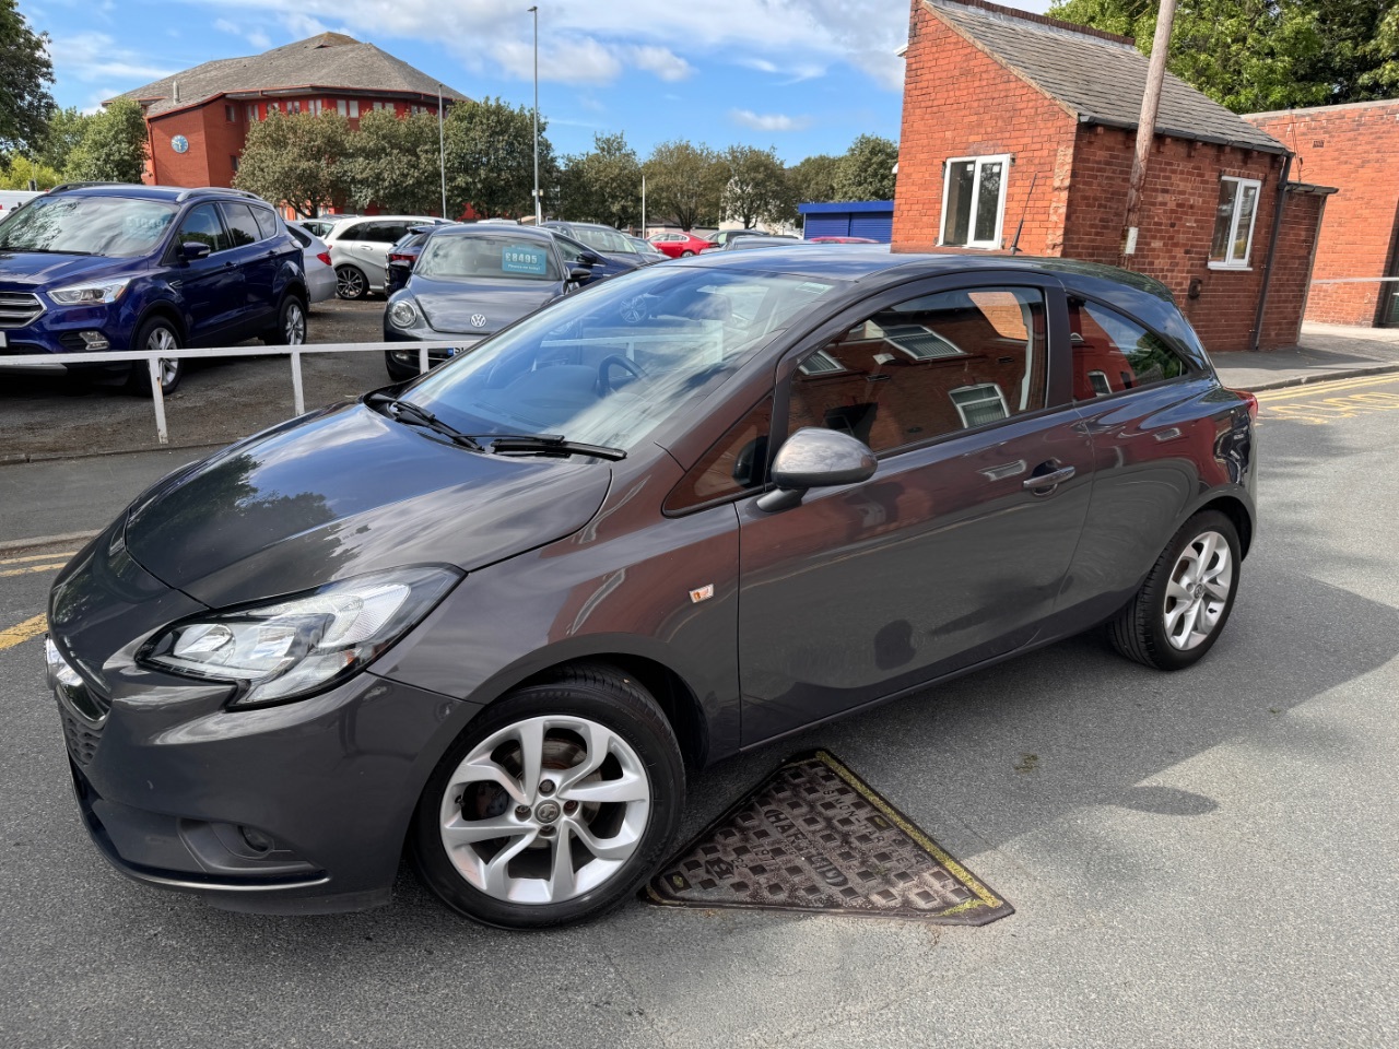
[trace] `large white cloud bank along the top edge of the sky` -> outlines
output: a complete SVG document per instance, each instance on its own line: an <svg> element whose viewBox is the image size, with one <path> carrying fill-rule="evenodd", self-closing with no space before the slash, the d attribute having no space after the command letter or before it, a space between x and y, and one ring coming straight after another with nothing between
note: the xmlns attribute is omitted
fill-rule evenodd
<svg viewBox="0 0 1399 1049"><path fill-rule="evenodd" d="M392 38L442 42L473 70L534 76L534 22L515 0L301 0L295 14L284 13L284 0L239 0L236 8L231 0L197 1L241 18L276 13L298 38L325 32L322 20L332 20L382 46ZM788 83L834 63L888 90L902 83L893 52L907 39L908 6L898 0L540 0L539 8L539 74L547 81L606 84L634 69L676 83L694 73L695 59L720 56Z"/></svg>

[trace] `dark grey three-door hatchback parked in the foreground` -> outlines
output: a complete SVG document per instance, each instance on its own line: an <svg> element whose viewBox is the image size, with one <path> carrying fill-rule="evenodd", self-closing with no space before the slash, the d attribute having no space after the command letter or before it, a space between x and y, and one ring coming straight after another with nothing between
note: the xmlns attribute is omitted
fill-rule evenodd
<svg viewBox="0 0 1399 1049"><path fill-rule="evenodd" d="M1062 260L713 253L141 495L49 683L125 874L243 911L586 919L687 775L1105 625L1181 670L1255 534L1256 401Z"/></svg>

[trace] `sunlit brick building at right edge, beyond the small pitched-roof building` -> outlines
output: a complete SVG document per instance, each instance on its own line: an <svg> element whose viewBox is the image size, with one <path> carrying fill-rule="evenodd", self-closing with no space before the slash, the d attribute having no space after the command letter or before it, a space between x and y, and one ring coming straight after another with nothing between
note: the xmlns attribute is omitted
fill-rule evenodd
<svg viewBox="0 0 1399 1049"><path fill-rule="evenodd" d="M1252 113L1294 166L1340 192L1316 243L1307 319L1399 326L1399 99Z"/></svg>

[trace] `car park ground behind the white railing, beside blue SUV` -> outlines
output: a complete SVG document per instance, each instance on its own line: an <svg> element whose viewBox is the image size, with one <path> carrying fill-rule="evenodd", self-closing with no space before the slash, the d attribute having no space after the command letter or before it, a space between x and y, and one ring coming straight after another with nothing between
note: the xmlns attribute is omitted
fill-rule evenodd
<svg viewBox="0 0 1399 1049"><path fill-rule="evenodd" d="M308 341L378 343L383 298L330 299L311 309ZM256 345L256 340L248 343ZM388 385L375 352L306 354L308 408L344 401ZM227 445L294 415L285 357L231 357L192 362L165 399L172 445ZM132 452L159 448L150 397L112 382L0 373L0 462L24 456Z"/></svg>

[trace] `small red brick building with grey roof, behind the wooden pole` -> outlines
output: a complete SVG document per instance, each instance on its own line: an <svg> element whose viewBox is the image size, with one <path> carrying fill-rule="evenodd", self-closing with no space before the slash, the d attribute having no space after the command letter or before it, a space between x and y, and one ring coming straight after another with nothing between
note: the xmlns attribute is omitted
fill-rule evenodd
<svg viewBox="0 0 1399 1049"><path fill-rule="evenodd" d="M905 62L895 250L1126 266L1161 280L1210 350L1297 341L1333 190L1287 182L1277 138L1167 74L1128 255L1147 74L1132 41L982 0L914 0Z"/></svg>

